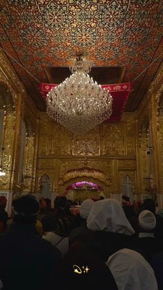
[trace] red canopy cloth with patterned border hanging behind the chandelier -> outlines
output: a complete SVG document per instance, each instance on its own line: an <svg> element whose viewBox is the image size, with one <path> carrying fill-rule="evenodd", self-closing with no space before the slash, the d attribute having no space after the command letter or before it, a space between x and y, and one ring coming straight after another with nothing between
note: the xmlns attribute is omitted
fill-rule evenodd
<svg viewBox="0 0 163 290"><path fill-rule="evenodd" d="M46 84L44 82L39 83L39 89L46 99L47 93L57 87L58 84ZM126 82L123 84L102 84L102 88L108 89L113 97L113 113L108 122L121 120L122 111L124 110L126 100L132 89L132 83Z"/></svg>

